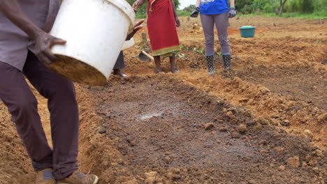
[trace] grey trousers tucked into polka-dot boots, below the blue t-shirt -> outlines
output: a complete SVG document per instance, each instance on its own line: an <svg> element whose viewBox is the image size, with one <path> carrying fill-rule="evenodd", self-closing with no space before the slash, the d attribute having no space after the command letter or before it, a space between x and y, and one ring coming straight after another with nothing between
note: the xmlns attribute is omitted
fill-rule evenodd
<svg viewBox="0 0 327 184"><path fill-rule="evenodd" d="M203 33L205 35L205 55L214 54L215 33L214 26L216 24L219 43L222 54L230 54L228 40L228 12L217 15L202 15L201 23Z"/></svg>

